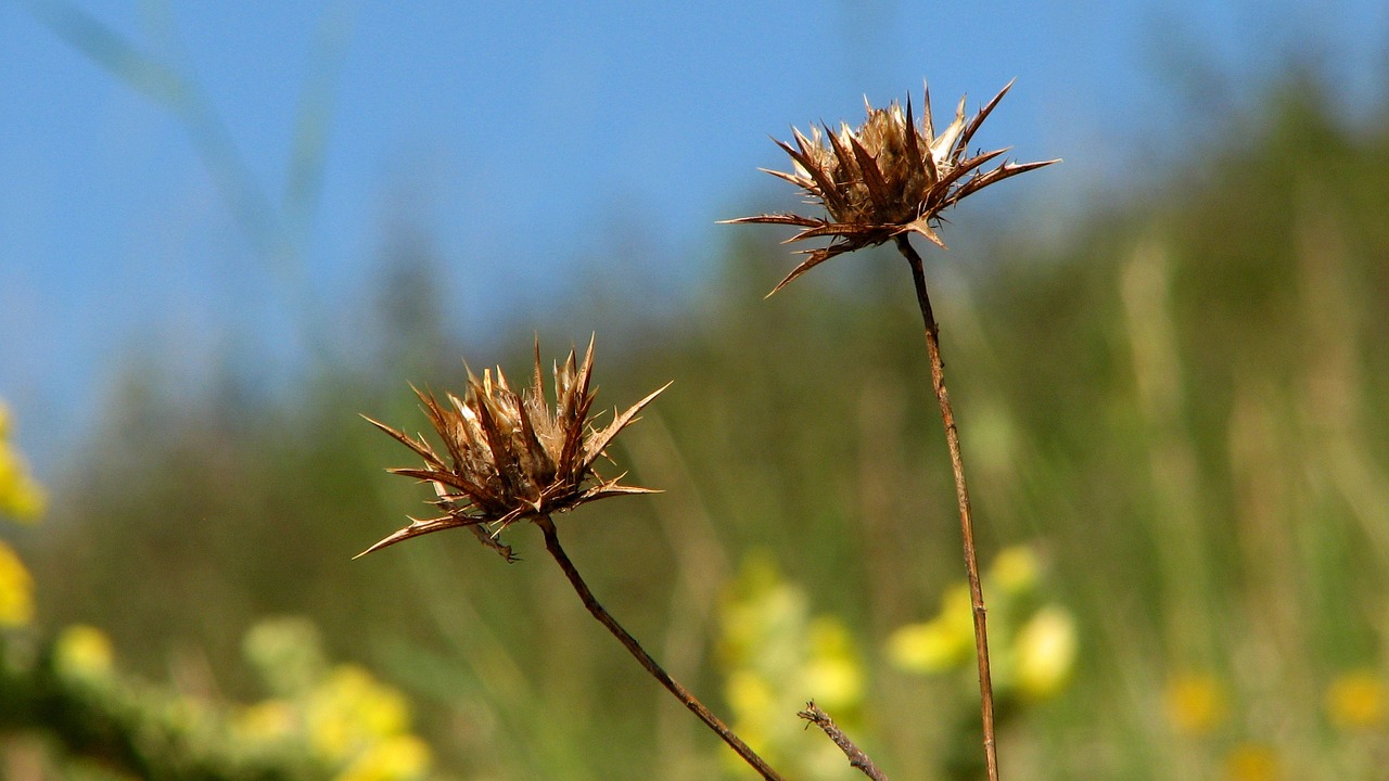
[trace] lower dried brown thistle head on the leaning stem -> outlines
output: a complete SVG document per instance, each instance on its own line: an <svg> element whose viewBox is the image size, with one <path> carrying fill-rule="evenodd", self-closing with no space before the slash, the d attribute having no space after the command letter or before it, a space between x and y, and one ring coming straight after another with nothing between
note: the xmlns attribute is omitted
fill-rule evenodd
<svg viewBox="0 0 1389 781"><path fill-rule="evenodd" d="M575 352L554 365L554 407L544 399L540 371L540 343L535 346L535 374L531 386L514 392L497 367L479 379L468 371L463 399L453 393L443 400L415 389L425 416L443 442L443 453L422 435L411 438L386 424L368 422L393 436L424 459L422 467L388 470L431 484L438 499L431 502L442 516L411 518L411 524L372 545L360 556L411 536L453 527L472 527L479 539L510 559L510 549L496 535L522 518L560 513L607 496L653 493L646 488L619 485L624 475L603 478L593 463L642 407L669 386L657 389L625 413L614 410L613 422L599 429L589 417L594 392L593 342L583 363ZM365 417L365 416L363 416Z"/></svg>

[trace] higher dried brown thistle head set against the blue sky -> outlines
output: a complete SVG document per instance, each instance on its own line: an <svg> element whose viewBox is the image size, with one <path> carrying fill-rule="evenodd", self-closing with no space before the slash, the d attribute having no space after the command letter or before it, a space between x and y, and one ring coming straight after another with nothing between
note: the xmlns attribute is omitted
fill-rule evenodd
<svg viewBox="0 0 1389 781"><path fill-rule="evenodd" d="M790 174L764 171L804 190L806 202L824 206L828 218L760 214L726 222L797 225L801 231L789 240L829 236L831 242L825 247L801 250L808 257L772 293L836 254L907 233L920 233L945 247L935 231L942 211L995 182L1057 163L1003 161L985 170L1007 149L968 154L974 133L1011 86L1008 82L968 121L961 97L954 121L940 133L931 120L931 92L926 90L920 125L913 118L910 97L906 108L896 100L886 108L874 108L865 100L868 118L858 128L847 124L840 124L839 131L831 131L829 125L811 126L808 138L792 128L796 146L776 140L776 146L790 156L795 170Z"/></svg>

